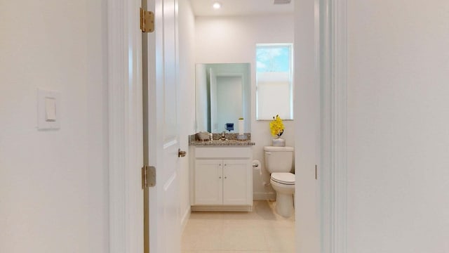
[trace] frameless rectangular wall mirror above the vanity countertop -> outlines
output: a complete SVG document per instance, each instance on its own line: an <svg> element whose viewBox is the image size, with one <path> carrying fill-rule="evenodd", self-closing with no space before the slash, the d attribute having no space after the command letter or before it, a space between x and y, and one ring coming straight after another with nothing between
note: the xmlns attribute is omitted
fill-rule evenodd
<svg viewBox="0 0 449 253"><path fill-rule="evenodd" d="M208 63L195 67L196 131L220 133L239 118L250 132L250 63Z"/></svg>

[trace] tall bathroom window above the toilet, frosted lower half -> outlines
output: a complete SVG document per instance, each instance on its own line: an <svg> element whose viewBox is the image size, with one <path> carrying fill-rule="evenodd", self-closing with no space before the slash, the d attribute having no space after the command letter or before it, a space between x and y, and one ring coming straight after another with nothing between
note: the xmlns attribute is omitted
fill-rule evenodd
<svg viewBox="0 0 449 253"><path fill-rule="evenodd" d="M293 119L293 45L256 45L256 119Z"/></svg>

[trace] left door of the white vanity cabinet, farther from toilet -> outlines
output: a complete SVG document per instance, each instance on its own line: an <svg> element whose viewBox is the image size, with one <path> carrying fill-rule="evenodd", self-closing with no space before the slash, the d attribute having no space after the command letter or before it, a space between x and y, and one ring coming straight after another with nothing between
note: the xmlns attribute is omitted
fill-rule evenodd
<svg viewBox="0 0 449 253"><path fill-rule="evenodd" d="M222 160L195 160L195 205L223 204Z"/></svg>

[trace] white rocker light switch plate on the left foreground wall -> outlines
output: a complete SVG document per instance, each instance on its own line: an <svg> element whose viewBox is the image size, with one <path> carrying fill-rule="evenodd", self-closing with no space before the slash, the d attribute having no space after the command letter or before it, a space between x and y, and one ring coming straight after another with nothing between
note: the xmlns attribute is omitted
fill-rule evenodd
<svg viewBox="0 0 449 253"><path fill-rule="evenodd" d="M60 129L60 93L37 89L37 129Z"/></svg>

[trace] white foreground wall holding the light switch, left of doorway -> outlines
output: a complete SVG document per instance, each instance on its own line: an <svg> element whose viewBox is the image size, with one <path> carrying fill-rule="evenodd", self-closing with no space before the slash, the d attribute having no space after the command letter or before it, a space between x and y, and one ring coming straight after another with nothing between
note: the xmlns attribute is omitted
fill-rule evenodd
<svg viewBox="0 0 449 253"><path fill-rule="evenodd" d="M0 252L108 252L106 0L0 2ZM57 131L36 89L60 91Z"/></svg>

